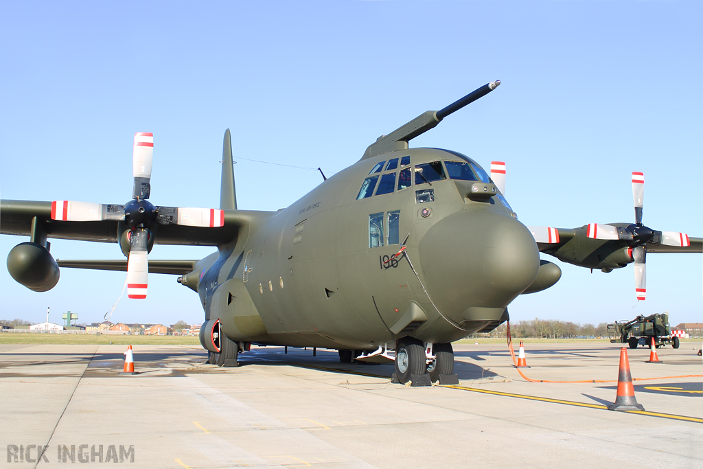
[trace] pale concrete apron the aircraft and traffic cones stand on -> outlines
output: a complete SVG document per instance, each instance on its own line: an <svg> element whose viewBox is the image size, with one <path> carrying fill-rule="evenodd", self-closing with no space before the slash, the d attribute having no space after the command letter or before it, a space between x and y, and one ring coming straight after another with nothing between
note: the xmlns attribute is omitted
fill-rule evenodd
<svg viewBox="0 0 703 469"><path fill-rule="evenodd" d="M526 347L530 378L617 379L618 345ZM134 446L122 464L138 468L703 468L702 378L635 383L647 411L687 421L599 409L617 383L527 383L501 340L455 346L464 387L596 407L393 385L377 377L392 365L311 349L252 348L238 368L217 368L200 347L135 346L141 374L124 376L124 348L0 345L0 467L37 466L7 462L8 445L48 444L38 467L65 467L57 446L102 444L104 457ZM659 349L663 364L628 349L633 377L703 374L698 348Z"/></svg>

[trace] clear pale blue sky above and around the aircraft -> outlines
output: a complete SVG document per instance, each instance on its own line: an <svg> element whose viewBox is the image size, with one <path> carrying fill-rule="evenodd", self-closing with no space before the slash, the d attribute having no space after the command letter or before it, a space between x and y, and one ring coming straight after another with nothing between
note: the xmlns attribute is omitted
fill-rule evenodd
<svg viewBox="0 0 703 469"><path fill-rule="evenodd" d="M0 196L125 203L135 131L155 135L151 200L217 207L221 141L235 156L335 172L385 134L494 79L492 94L412 141L488 168L527 225L633 221L630 174L646 177L645 224L703 236L703 8L698 1L9 2L0 4ZM240 208L277 210L313 171L240 160ZM30 172L32 172L30 174ZM26 238L0 236L0 257ZM62 259L120 259L117 245L54 240ZM151 259L206 248L157 245ZM543 258L555 260L548 256ZM519 297L513 320L580 323L668 309L702 320L702 255L569 266ZM4 264L4 262L3 262ZM102 319L124 274L63 269L33 293L0 269L0 318ZM176 276L151 275L113 321L203 319Z"/></svg>

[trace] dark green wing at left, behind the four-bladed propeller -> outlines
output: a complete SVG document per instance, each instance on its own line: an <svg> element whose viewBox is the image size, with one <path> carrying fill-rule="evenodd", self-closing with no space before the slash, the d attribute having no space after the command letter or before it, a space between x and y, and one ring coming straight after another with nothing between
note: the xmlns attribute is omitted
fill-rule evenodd
<svg viewBox="0 0 703 469"><path fill-rule="evenodd" d="M157 226L155 243L168 245L216 246L227 243L240 226L255 217L272 216L276 212L223 210L224 226L202 227L179 224ZM32 219L37 217L49 238L117 243L127 228L124 221L60 221L51 219L51 202L33 200L0 200L0 234L30 236ZM122 225L120 227L120 225Z"/></svg>

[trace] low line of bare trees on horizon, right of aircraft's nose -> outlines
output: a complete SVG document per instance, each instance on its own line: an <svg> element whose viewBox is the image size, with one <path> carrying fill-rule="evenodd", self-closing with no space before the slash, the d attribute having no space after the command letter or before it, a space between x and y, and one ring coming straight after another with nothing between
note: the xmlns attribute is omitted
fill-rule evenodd
<svg viewBox="0 0 703 469"><path fill-rule="evenodd" d="M470 335L470 337L505 337L507 332L508 324L503 323L489 334L475 333ZM593 326L593 324L579 324L556 319L528 319L515 323L511 322L510 336L513 338L547 339L607 337L607 323L600 323L598 326Z"/></svg>

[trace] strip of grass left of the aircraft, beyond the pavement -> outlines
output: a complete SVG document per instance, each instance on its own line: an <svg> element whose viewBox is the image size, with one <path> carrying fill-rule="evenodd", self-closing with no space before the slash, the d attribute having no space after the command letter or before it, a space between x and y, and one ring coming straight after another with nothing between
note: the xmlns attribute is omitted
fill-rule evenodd
<svg viewBox="0 0 703 469"><path fill-rule="evenodd" d="M0 344L200 345L197 335L103 335L0 333Z"/></svg>

